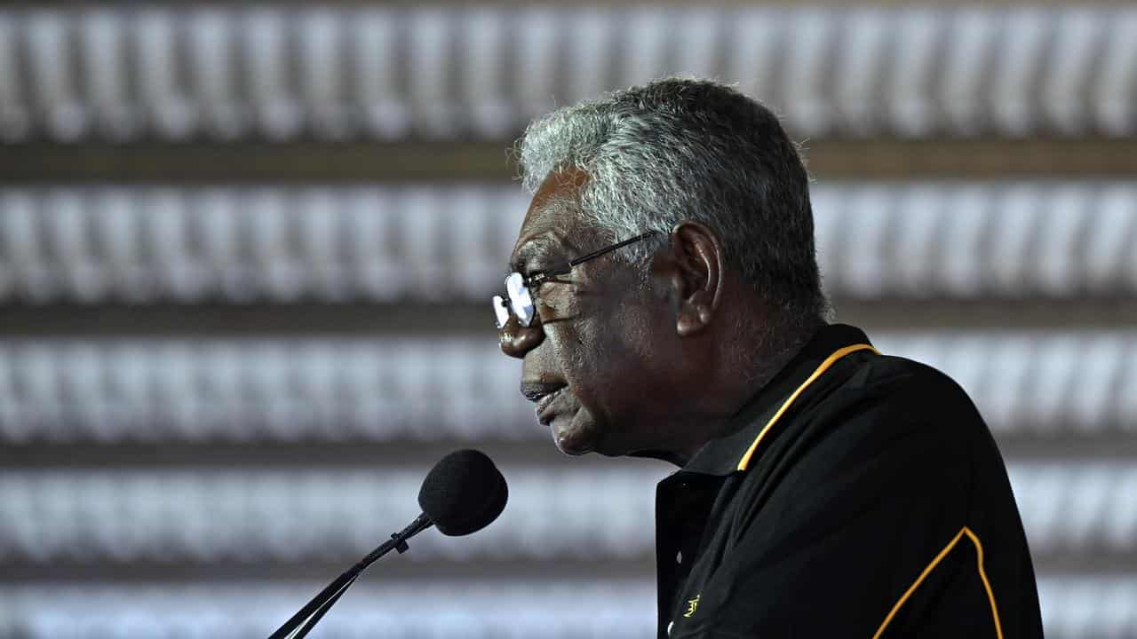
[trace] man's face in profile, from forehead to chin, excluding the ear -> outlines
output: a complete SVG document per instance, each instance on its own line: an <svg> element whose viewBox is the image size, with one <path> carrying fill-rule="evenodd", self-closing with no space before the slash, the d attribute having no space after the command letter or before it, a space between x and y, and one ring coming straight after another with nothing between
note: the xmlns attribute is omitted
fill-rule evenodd
<svg viewBox="0 0 1137 639"><path fill-rule="evenodd" d="M607 242L576 213L580 173L556 173L533 197L514 246L522 274L565 267ZM533 291L538 317L512 318L501 350L524 359L522 392L536 400L541 424L570 455L624 455L653 446L653 415L663 379L655 338L665 313L632 267L603 256ZM657 309L658 310L658 309ZM654 320L653 320L654 318ZM661 332L664 331L664 332Z"/></svg>

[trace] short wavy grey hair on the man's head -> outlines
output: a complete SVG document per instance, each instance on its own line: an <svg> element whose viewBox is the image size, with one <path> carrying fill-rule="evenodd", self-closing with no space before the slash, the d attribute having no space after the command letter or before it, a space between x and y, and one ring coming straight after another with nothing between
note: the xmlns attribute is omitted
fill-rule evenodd
<svg viewBox="0 0 1137 639"><path fill-rule="evenodd" d="M778 118L730 86L671 77L563 107L530 123L517 163L530 192L583 171L580 213L608 240L658 233L619 258L646 264L677 223L697 221L782 321L828 314L805 166Z"/></svg>

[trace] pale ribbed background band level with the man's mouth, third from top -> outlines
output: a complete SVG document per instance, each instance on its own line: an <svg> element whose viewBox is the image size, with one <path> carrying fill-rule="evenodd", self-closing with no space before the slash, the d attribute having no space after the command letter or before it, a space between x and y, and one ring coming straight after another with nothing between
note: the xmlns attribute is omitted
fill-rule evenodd
<svg viewBox="0 0 1137 639"><path fill-rule="evenodd" d="M936 366L999 435L1137 434L1135 331L871 335ZM9 442L541 440L485 338L0 340Z"/></svg>

